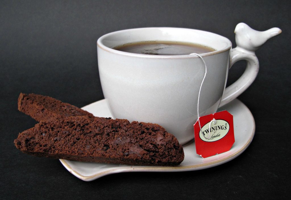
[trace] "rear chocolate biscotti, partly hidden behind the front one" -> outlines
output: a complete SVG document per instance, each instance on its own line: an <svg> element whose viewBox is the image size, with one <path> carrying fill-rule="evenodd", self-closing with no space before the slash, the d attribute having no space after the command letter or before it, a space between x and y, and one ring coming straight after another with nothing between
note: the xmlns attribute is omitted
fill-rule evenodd
<svg viewBox="0 0 291 200"><path fill-rule="evenodd" d="M69 116L94 117L93 114L81 108L39 94L20 93L18 98L18 110L31 116L38 122L49 118L61 119Z"/></svg>

